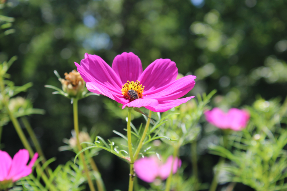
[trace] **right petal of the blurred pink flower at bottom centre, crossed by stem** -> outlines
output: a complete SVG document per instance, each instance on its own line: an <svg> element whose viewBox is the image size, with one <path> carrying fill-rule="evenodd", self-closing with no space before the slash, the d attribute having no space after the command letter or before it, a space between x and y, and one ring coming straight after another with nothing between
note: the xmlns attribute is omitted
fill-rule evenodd
<svg viewBox="0 0 287 191"><path fill-rule="evenodd" d="M160 166L159 176L162 180L165 180L170 175L172 161L173 157L170 156L166 160L166 163ZM175 174L180 166L181 166L181 160L179 160L178 157L176 157L173 162L172 173Z"/></svg>

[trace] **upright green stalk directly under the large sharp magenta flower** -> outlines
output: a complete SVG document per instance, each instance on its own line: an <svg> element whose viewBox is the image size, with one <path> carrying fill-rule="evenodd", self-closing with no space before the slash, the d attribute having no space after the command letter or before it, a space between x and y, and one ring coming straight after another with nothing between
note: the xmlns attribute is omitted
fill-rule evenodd
<svg viewBox="0 0 287 191"><path fill-rule="evenodd" d="M133 149L131 145L131 110L132 107L129 107L129 113L127 116L127 142L129 146L129 156L131 158L130 162L130 174L129 174L129 191L133 191L133 181L135 179L135 172L133 170L133 163L135 162L133 159Z"/></svg>

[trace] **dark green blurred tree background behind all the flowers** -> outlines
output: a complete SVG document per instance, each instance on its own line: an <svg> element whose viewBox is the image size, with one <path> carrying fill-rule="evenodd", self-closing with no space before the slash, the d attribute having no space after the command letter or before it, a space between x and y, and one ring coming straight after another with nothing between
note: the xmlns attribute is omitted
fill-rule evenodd
<svg viewBox="0 0 287 191"><path fill-rule="evenodd" d="M117 54L133 52L143 68L155 59L169 58L179 73L197 76L189 96L218 90L213 106L240 107L259 95L284 99L287 93L285 0L8 0L5 4L1 14L15 18L15 33L0 38L0 62L17 55L8 71L11 79L19 86L34 84L22 96L46 111L29 120L46 157L57 157L52 168L74 156L58 151L65 145L63 138L71 137L73 115L70 101L52 95L44 85L61 87L53 70L64 77L86 52L110 65ZM126 122L115 118L106 103L110 102L104 96L79 101L80 128L95 129L104 138L115 136L113 129L125 133ZM134 124L142 121L136 119ZM2 142L9 153L22 148L11 124L4 126ZM201 180L210 182L218 158L206 151L200 157ZM95 159L107 190L127 188L125 162L104 151Z"/></svg>

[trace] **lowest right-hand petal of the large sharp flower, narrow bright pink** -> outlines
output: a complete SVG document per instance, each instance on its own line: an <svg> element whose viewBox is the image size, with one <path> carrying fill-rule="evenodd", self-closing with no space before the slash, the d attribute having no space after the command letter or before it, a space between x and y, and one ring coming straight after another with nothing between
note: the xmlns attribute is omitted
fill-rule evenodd
<svg viewBox="0 0 287 191"><path fill-rule="evenodd" d="M173 107L177 107L181 105L182 103L189 101L191 98L194 98L194 96L186 97L182 99L176 99L176 100L158 101L157 106L145 106L145 108L151 111L154 111L154 112L165 112Z"/></svg>

